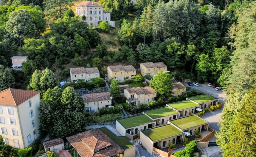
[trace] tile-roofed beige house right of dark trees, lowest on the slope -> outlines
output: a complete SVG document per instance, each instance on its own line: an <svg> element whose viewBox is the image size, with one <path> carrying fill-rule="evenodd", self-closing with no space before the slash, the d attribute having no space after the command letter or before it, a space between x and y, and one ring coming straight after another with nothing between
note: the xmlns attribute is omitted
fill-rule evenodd
<svg viewBox="0 0 256 157"><path fill-rule="evenodd" d="M84 111L96 112L102 107L111 106L111 96L109 92L84 94Z"/></svg>

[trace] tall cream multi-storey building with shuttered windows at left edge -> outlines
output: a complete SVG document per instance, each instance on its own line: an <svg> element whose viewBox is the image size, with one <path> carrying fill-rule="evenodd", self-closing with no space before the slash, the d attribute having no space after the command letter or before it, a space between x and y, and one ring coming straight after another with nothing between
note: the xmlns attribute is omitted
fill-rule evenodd
<svg viewBox="0 0 256 157"><path fill-rule="evenodd" d="M39 137L40 92L8 88L0 92L0 127L6 144L26 148Z"/></svg>

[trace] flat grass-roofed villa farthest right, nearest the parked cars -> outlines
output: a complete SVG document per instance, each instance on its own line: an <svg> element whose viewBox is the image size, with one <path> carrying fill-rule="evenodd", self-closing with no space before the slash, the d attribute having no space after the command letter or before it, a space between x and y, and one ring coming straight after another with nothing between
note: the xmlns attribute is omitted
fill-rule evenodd
<svg viewBox="0 0 256 157"><path fill-rule="evenodd" d="M188 97L187 100L190 100L196 104L199 104L201 106L201 109L208 108L209 105L217 105L219 102L218 98L208 94Z"/></svg>

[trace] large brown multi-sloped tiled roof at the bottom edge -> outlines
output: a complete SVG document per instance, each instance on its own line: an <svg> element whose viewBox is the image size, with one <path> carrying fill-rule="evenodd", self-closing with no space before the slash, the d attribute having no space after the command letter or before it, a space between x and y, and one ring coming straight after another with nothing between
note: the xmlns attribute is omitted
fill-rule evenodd
<svg viewBox="0 0 256 157"><path fill-rule="evenodd" d="M109 157L124 151L98 128L67 137L67 140L82 157Z"/></svg>

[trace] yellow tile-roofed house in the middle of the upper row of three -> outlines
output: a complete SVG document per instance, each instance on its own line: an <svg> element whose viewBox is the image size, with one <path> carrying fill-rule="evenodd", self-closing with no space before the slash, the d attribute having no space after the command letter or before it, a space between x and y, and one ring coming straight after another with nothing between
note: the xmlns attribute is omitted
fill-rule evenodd
<svg viewBox="0 0 256 157"><path fill-rule="evenodd" d="M124 79L131 79L136 76L136 69L132 65L115 65L107 67L108 80L115 79L123 82Z"/></svg>

